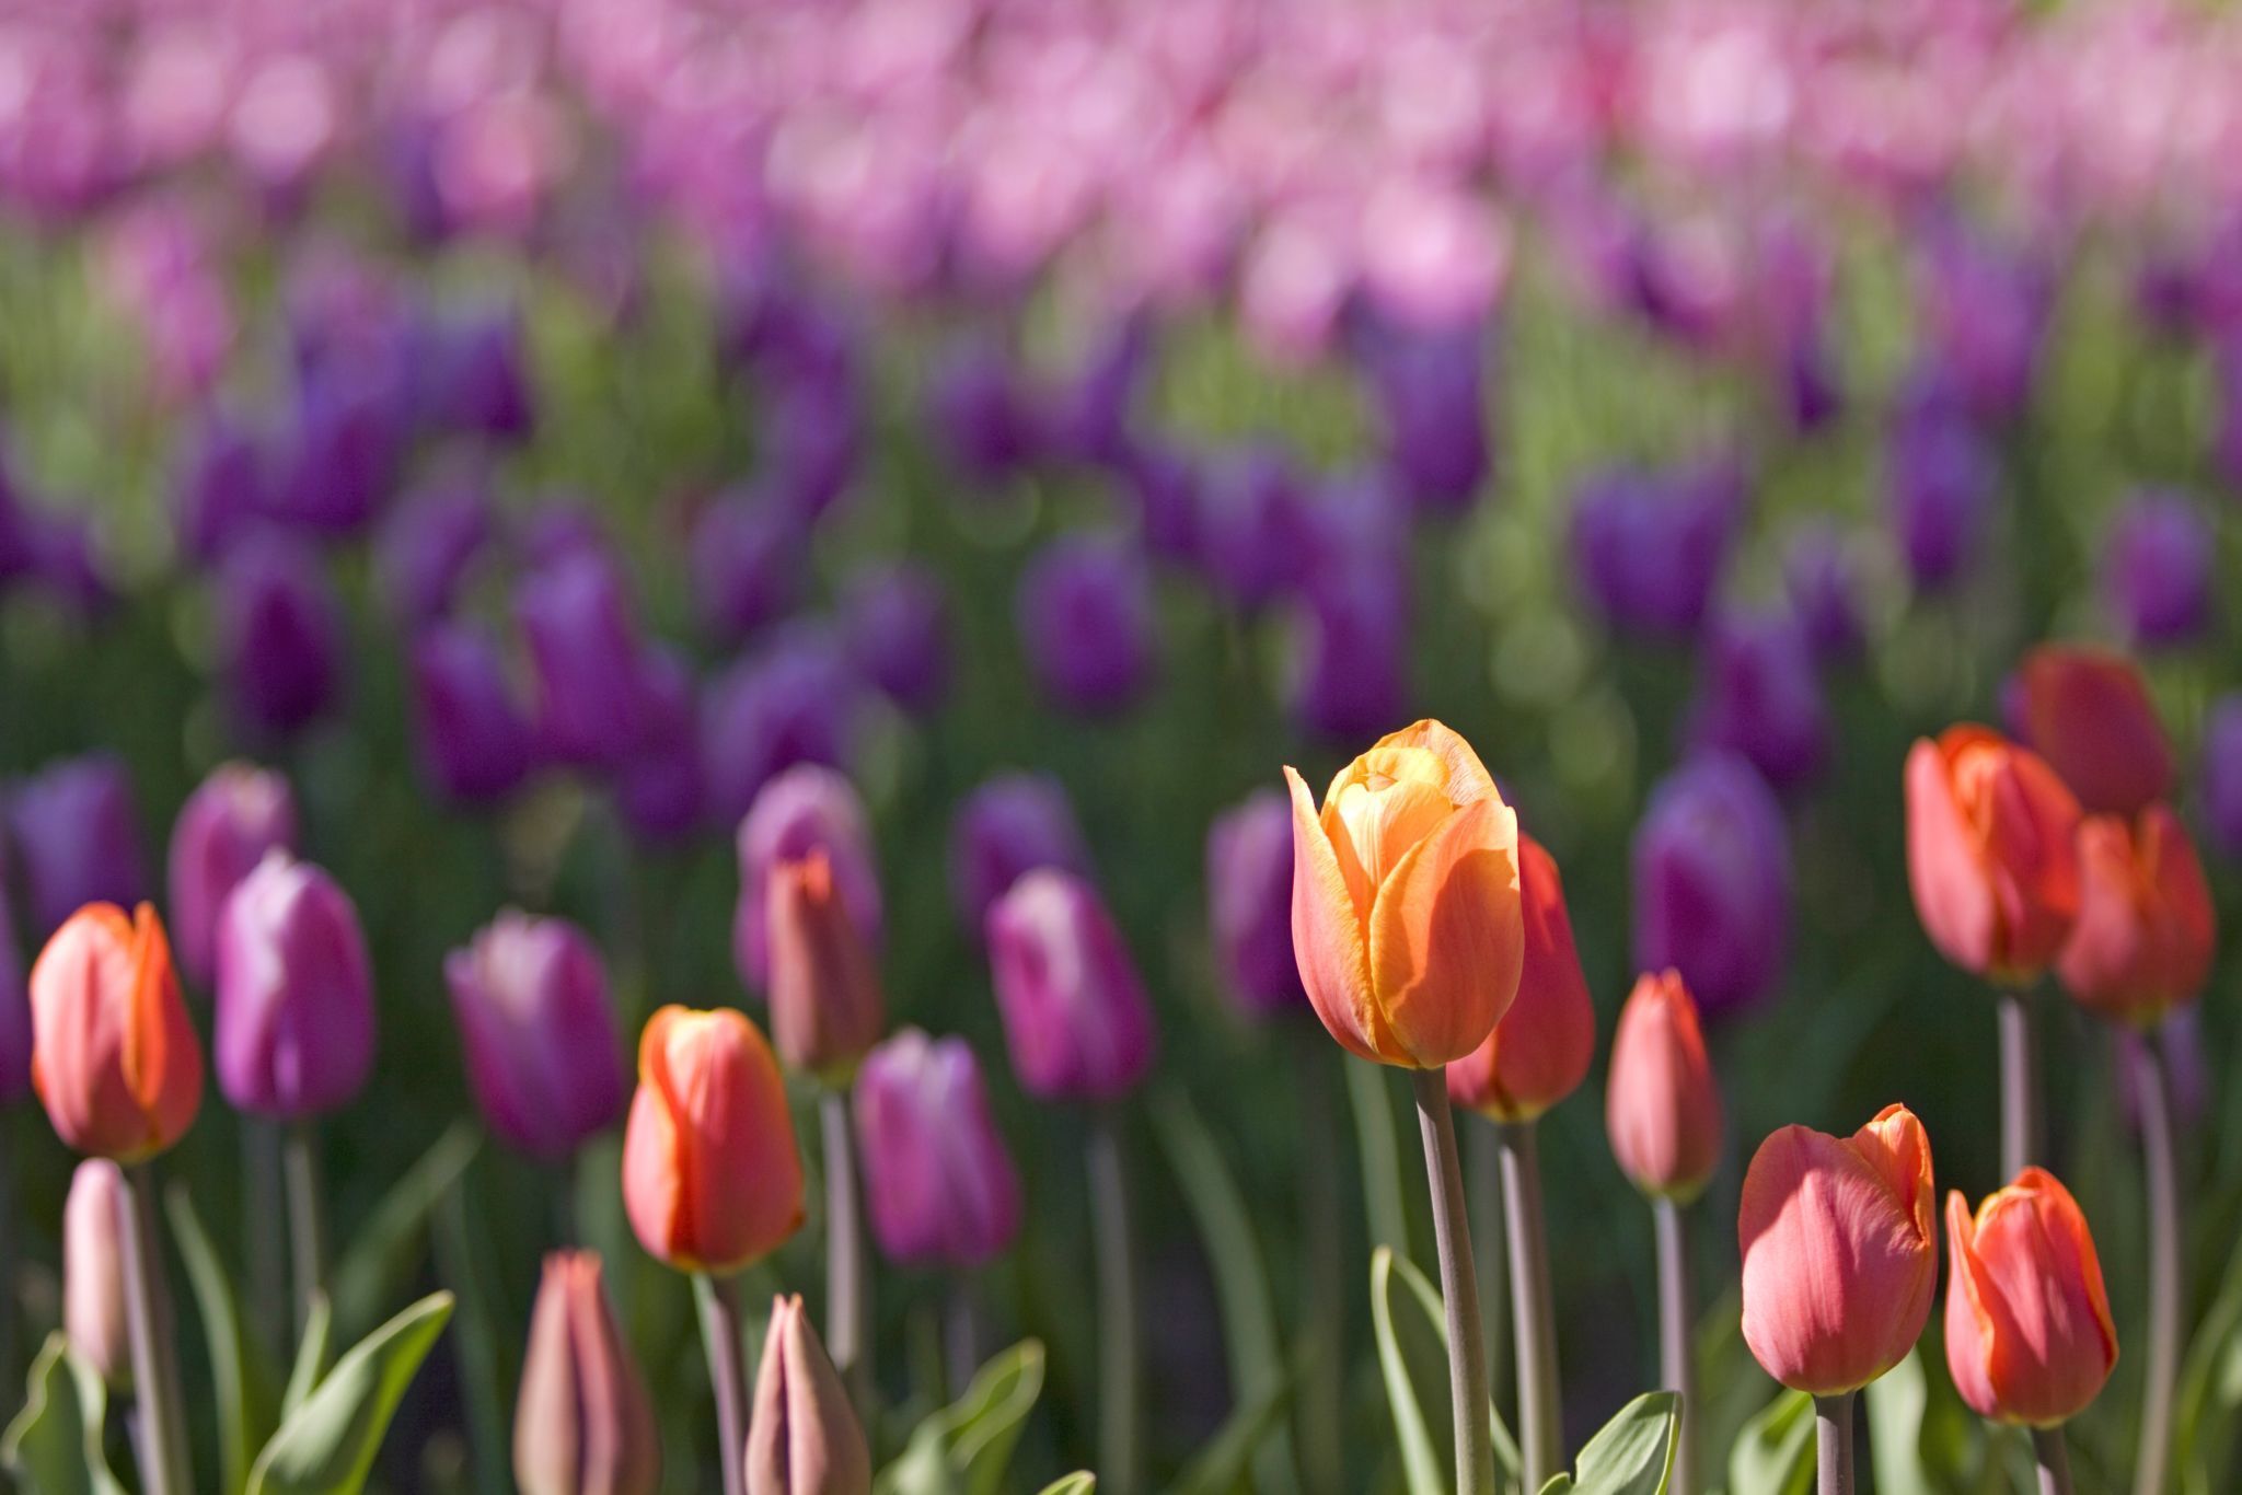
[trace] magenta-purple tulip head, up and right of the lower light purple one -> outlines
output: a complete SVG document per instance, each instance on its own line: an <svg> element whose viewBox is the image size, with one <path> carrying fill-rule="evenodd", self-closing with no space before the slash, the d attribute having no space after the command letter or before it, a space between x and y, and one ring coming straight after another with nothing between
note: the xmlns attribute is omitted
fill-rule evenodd
<svg viewBox="0 0 2242 1495"><path fill-rule="evenodd" d="M1036 867L989 908L989 968L1020 1089L1112 1101L1152 1067L1152 1006L1090 883Z"/></svg>

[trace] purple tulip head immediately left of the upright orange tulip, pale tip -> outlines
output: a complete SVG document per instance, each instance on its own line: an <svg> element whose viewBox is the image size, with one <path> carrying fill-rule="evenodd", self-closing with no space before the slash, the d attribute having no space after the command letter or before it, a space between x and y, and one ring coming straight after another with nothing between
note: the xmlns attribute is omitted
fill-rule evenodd
<svg viewBox="0 0 2242 1495"><path fill-rule="evenodd" d="M560 1161L623 1114L608 971L574 923L509 908L444 957L444 984L493 1132Z"/></svg>

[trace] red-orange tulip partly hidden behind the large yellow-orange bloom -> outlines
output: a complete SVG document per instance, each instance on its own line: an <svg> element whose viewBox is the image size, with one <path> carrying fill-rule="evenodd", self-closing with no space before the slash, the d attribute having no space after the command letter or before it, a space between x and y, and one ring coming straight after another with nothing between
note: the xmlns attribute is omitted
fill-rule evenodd
<svg viewBox="0 0 2242 1495"><path fill-rule="evenodd" d="M1556 858L1522 832L1518 906L1518 1000L1486 1042L1448 1065L1448 1098L1495 1121L1534 1121L1581 1087L1596 1053L1596 1006L1572 946L1565 881Z"/></svg>

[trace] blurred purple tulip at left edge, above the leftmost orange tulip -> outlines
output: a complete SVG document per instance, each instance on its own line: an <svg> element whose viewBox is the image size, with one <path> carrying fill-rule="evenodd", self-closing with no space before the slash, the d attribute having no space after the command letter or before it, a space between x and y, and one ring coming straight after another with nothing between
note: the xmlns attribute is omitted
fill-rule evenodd
<svg viewBox="0 0 2242 1495"><path fill-rule="evenodd" d="M141 901L148 881L132 780L114 755L70 758L16 784L9 827L40 944L87 903Z"/></svg>

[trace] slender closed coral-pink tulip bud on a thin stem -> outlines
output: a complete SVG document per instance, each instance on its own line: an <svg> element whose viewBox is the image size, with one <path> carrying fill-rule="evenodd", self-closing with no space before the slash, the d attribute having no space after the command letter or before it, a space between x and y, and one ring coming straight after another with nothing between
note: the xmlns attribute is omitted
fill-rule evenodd
<svg viewBox="0 0 2242 1495"><path fill-rule="evenodd" d="M1695 1199L1720 1166L1720 1080L1679 971L1634 979L1612 1038L1603 1130L1612 1157L1646 1195Z"/></svg>

